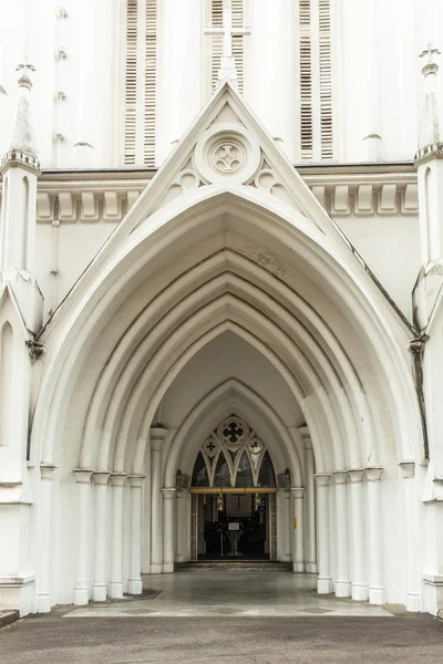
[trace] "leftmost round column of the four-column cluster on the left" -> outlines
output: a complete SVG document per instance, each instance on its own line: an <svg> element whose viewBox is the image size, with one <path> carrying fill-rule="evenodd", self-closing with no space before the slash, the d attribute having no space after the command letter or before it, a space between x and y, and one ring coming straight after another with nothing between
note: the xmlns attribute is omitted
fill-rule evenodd
<svg viewBox="0 0 443 664"><path fill-rule="evenodd" d="M92 470L76 468L73 470L78 486L78 548L76 548L76 571L74 582L74 604L82 606L89 602L89 529L90 529L90 500L91 500L91 477Z"/></svg>

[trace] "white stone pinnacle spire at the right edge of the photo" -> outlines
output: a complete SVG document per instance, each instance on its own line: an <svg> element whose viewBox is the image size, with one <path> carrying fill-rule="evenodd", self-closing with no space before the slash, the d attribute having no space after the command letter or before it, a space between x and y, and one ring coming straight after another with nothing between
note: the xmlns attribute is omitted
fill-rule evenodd
<svg viewBox="0 0 443 664"><path fill-rule="evenodd" d="M420 54L420 58L426 59L426 62L422 69L424 76L424 113L416 159L429 155L432 152L432 146L437 146L442 141L439 118L439 65L435 62L440 54L441 52L433 43L429 43Z"/></svg>

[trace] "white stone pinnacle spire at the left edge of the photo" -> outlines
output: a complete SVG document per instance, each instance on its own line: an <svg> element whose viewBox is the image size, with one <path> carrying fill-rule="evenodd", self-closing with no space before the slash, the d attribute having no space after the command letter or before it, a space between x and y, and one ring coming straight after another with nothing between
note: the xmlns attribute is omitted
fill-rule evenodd
<svg viewBox="0 0 443 664"><path fill-rule="evenodd" d="M37 157L34 135L31 124L31 89L32 82L30 72L34 72L35 68L28 63L25 59L23 63L17 66L17 71L21 72L18 80L19 83L19 102L17 107L16 125L12 132L11 145L8 153L2 159L2 166L7 163L21 163L39 170L40 164Z"/></svg>

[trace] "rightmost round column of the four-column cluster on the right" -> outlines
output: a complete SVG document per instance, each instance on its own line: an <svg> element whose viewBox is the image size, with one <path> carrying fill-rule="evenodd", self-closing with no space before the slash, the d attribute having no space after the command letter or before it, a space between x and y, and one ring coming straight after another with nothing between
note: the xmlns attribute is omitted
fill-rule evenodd
<svg viewBox="0 0 443 664"><path fill-rule="evenodd" d="M383 585L383 548L381 523L381 474L382 468L364 468L368 479L369 551L371 604L384 604L387 592Z"/></svg>

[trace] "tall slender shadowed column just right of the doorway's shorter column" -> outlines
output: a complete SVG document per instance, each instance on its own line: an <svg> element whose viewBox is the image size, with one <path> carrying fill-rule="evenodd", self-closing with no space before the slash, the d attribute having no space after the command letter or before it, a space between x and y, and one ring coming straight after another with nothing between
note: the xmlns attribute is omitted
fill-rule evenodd
<svg viewBox="0 0 443 664"><path fill-rule="evenodd" d="M308 427L300 429L301 438L305 443L305 558L306 571L317 574L317 537L316 537L316 461L313 458L312 440Z"/></svg>

